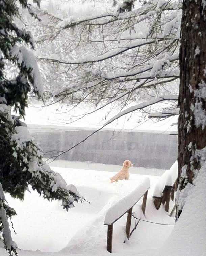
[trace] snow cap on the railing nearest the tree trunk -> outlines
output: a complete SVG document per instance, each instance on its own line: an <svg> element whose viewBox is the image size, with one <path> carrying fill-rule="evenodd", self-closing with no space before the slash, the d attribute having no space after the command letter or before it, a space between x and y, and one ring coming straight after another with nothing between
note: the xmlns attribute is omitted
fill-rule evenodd
<svg viewBox="0 0 206 256"><path fill-rule="evenodd" d="M177 160L170 167L170 170L166 170L159 181L155 185L153 197L161 197L165 186L173 186L178 175L178 163Z"/></svg>

